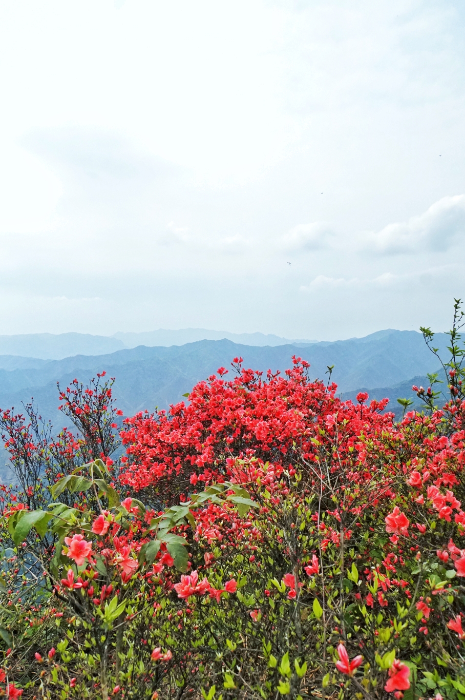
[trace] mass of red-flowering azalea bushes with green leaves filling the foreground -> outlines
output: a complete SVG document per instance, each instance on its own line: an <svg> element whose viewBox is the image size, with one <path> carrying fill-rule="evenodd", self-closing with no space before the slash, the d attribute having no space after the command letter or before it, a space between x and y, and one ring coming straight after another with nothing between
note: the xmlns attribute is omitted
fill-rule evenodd
<svg viewBox="0 0 465 700"><path fill-rule="evenodd" d="M3 412L0 692L464 700L461 323L399 422L297 357L122 424L112 380L75 380L54 439Z"/></svg>

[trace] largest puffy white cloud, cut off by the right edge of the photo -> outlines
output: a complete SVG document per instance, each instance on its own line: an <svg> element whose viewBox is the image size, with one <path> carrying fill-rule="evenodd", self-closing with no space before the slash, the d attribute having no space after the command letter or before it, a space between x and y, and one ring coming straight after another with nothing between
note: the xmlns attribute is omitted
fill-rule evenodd
<svg viewBox="0 0 465 700"><path fill-rule="evenodd" d="M391 223L377 233L362 237L364 246L376 253L422 253L447 251L465 235L465 195L443 197L420 216Z"/></svg>

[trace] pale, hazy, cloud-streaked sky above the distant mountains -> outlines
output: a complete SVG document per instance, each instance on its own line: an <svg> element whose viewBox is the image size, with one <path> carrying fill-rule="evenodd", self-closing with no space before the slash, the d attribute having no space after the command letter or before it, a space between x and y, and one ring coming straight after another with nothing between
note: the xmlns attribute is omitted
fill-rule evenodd
<svg viewBox="0 0 465 700"><path fill-rule="evenodd" d="M0 334L447 330L464 65L455 0L4 0Z"/></svg>

